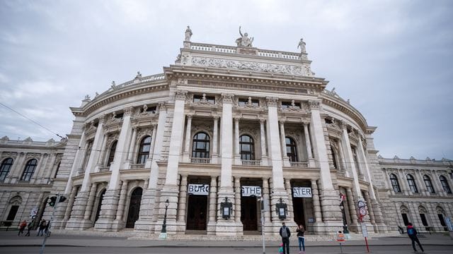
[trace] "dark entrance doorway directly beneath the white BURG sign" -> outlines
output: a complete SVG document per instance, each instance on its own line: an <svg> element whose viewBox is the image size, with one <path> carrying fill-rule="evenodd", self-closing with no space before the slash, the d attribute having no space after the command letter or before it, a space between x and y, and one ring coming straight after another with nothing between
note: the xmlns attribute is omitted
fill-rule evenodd
<svg viewBox="0 0 453 254"><path fill-rule="evenodd" d="M189 195L187 208L188 230L206 230L207 195Z"/></svg>

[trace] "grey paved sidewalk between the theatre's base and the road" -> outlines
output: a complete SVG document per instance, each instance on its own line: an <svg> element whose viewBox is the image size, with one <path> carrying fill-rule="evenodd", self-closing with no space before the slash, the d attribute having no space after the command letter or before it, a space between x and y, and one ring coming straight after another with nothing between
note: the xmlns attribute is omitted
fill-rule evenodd
<svg viewBox="0 0 453 254"><path fill-rule="evenodd" d="M262 241L205 241L197 240L176 240L176 239L134 239L127 237L103 236L96 232L91 235L62 234L52 232L47 238L46 246L84 246L84 247L260 247ZM453 246L453 239L445 234L420 235L420 242L423 246ZM5 246L40 246L42 236L17 236L17 231L0 231L0 248ZM410 245L411 241L406 235L379 237L374 236L368 241L369 246L401 246ZM266 241L266 246L278 246L278 241ZM336 246L336 241L306 241L306 246ZM297 246L297 238L291 238L291 246ZM346 241L343 246L365 246L365 238L360 240Z"/></svg>

